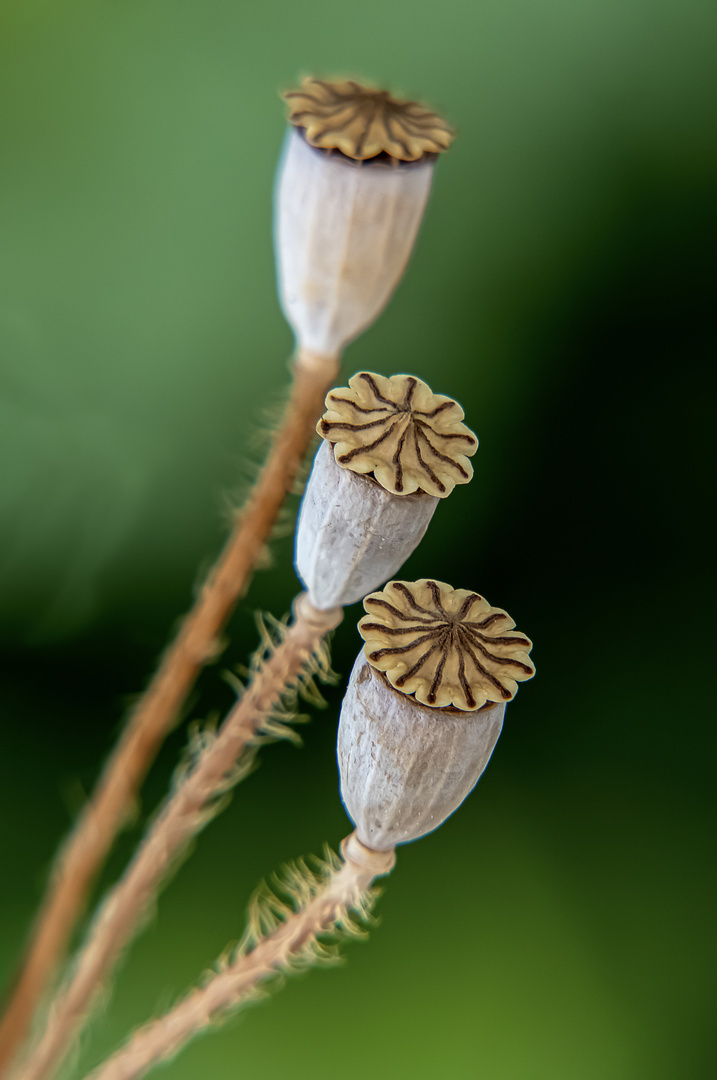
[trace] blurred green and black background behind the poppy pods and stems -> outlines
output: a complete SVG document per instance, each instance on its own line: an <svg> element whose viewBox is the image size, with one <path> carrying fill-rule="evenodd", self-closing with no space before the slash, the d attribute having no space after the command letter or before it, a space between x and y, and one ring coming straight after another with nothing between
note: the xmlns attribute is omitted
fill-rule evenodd
<svg viewBox="0 0 717 1080"><path fill-rule="evenodd" d="M342 375L457 396L475 480L405 577L536 642L478 789L400 851L367 944L199 1040L167 1080L717 1075L707 613L709 0L5 0L0 32L0 975L53 851L226 535L292 338L278 97L349 73L442 110L414 261ZM294 508L295 509L295 508ZM226 710L253 611L187 718ZM335 639L357 650L348 612ZM83 1041L81 1076L236 939L256 882L336 846L340 691L201 837ZM186 740L167 741L102 888Z"/></svg>

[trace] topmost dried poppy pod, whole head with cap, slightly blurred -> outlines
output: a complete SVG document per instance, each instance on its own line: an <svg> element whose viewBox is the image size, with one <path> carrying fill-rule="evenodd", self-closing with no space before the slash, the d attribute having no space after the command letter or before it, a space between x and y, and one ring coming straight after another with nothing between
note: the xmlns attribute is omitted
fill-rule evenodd
<svg viewBox="0 0 717 1080"><path fill-rule="evenodd" d="M355 82L305 79L284 97L280 297L299 350L336 356L395 288L452 133L415 102Z"/></svg>

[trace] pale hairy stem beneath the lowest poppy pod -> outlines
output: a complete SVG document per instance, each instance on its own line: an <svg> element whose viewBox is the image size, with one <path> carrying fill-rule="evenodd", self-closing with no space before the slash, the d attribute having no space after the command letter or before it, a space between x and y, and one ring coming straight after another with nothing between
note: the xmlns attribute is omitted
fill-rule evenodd
<svg viewBox="0 0 717 1080"><path fill-rule="evenodd" d="M330 930L350 908L361 904L374 879L390 873L393 851L374 852L352 834L342 846L343 866L306 907L265 937L251 953L240 955L168 1013L139 1028L116 1054L86 1080L137 1080L157 1064L176 1054L198 1032L221 1021L232 1007L265 980L290 969L292 958Z"/></svg>

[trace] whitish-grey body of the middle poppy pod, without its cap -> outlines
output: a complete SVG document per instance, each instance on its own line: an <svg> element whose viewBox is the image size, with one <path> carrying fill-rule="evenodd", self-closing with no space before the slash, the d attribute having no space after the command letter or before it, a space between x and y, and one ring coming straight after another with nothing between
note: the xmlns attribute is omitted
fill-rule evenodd
<svg viewBox="0 0 717 1080"><path fill-rule="evenodd" d="M392 495L342 469L322 440L296 530L296 568L314 607L353 604L393 577L438 502L424 491Z"/></svg>

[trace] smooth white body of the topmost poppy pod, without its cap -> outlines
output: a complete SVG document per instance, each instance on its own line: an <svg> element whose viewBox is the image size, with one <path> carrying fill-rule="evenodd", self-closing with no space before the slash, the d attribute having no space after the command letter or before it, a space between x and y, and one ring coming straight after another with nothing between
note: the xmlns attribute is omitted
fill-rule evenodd
<svg viewBox="0 0 717 1080"><path fill-rule="evenodd" d="M336 355L374 322L408 261L432 177L433 159L352 162L289 130L278 176L276 271L300 348Z"/></svg>

